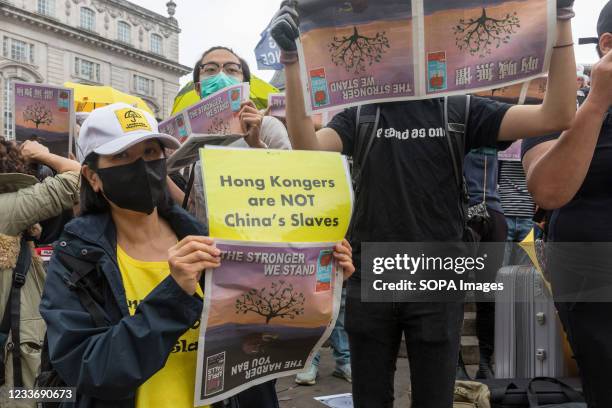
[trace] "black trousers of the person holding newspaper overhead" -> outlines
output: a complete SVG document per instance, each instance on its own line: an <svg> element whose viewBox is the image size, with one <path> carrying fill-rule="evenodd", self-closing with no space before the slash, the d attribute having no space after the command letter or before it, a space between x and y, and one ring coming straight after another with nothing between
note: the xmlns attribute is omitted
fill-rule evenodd
<svg viewBox="0 0 612 408"><path fill-rule="evenodd" d="M463 302L365 303L350 279L345 329L349 336L355 408L392 408L396 360L406 337L412 408L450 408L459 356Z"/></svg>

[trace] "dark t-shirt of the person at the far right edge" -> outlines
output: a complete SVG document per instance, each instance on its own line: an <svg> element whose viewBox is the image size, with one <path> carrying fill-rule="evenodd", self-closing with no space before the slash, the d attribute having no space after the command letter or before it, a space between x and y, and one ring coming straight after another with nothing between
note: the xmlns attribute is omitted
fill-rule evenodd
<svg viewBox="0 0 612 408"><path fill-rule="evenodd" d="M522 154L559 134L523 141ZM612 109L604 120L589 171L576 196L555 210L548 239L556 242L612 242Z"/></svg>

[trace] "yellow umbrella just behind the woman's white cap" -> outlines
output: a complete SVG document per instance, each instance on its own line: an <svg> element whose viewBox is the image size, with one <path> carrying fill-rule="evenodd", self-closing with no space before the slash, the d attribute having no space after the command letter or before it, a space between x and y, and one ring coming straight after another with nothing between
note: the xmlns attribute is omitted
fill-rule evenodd
<svg viewBox="0 0 612 408"><path fill-rule="evenodd" d="M77 112L91 112L102 106L124 102L153 115L149 105L141 98L120 92L110 86L83 85L74 82L66 82L64 86L74 89L74 104Z"/></svg>

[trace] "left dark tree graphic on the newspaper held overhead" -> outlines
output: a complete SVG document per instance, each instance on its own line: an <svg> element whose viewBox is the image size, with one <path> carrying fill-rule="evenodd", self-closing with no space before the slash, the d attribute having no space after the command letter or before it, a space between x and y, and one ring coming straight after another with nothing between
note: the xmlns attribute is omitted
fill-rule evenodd
<svg viewBox="0 0 612 408"><path fill-rule="evenodd" d="M389 48L389 39L384 31L376 33L374 37L367 37L359 34L356 26L351 35L334 36L329 44L332 62L356 74L364 73L367 67L380 62Z"/></svg>

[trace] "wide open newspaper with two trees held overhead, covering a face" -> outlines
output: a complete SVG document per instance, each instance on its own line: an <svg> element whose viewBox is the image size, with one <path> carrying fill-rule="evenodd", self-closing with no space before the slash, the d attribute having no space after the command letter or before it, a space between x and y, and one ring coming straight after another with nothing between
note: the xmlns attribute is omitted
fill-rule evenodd
<svg viewBox="0 0 612 408"><path fill-rule="evenodd" d="M476 93L543 76L555 6L555 0L299 0L306 107L322 112Z"/></svg>

